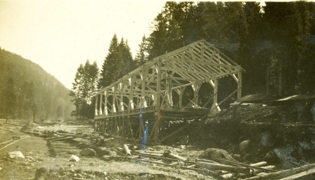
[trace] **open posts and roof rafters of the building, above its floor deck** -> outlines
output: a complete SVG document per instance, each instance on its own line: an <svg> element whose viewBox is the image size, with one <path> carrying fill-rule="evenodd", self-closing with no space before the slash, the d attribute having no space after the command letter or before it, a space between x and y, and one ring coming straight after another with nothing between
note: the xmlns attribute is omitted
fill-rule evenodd
<svg viewBox="0 0 315 180"><path fill-rule="evenodd" d="M198 91L205 82L211 84L214 94L207 103L199 106L204 107L213 99L211 109L220 110L219 106L234 93L238 94L238 102L241 101L242 71L245 70L241 66L201 39L152 59L98 91L95 119L136 113L141 109L156 111L162 106L185 107L182 95L187 86L194 90L192 101L198 105ZM218 80L230 75L238 88L218 103ZM176 104L172 99L173 92L179 95Z"/></svg>

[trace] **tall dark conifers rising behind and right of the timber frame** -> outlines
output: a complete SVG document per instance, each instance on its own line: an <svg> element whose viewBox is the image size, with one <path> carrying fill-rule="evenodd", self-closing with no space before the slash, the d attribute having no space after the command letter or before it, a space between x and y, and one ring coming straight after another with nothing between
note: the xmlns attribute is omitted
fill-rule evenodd
<svg viewBox="0 0 315 180"><path fill-rule="evenodd" d="M94 86L106 87L154 57L205 39L246 70L245 95L265 93L267 78L273 96L314 93L314 20L313 2L266 2L263 7L256 2L167 2L135 59L127 40L113 36ZM207 97L209 90L199 95Z"/></svg>

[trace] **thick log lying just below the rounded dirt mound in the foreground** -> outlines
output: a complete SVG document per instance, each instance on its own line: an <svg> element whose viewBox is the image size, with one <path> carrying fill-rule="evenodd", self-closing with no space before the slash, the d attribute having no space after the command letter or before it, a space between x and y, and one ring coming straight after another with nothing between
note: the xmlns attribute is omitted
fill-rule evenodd
<svg viewBox="0 0 315 180"><path fill-rule="evenodd" d="M244 168L244 167L222 165L222 164L215 164L215 163L196 162L196 165L201 168L209 169L211 171L223 170L223 171L229 171L229 172L242 172L242 173L249 173L250 171L250 169Z"/></svg>

